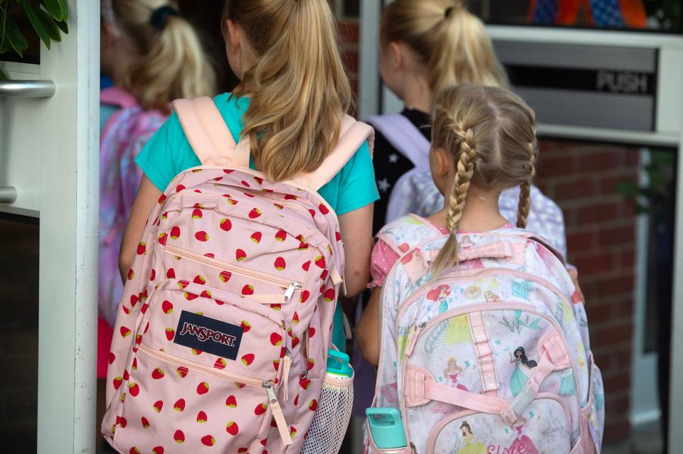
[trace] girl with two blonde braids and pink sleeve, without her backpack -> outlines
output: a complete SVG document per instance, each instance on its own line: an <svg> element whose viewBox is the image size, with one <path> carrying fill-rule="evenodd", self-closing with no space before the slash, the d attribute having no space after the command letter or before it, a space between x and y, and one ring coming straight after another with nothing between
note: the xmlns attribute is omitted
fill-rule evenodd
<svg viewBox="0 0 683 454"><path fill-rule="evenodd" d="M433 275L455 261L454 233L512 227L498 208L499 195L507 188L520 188L517 227L524 227L536 175L534 124L534 112L502 88L459 85L440 94L435 102L429 161L440 193L448 197L443 210L427 219L413 215L411 221L433 226L435 237L451 234L435 259ZM356 330L361 352L373 364L379 358L381 286L398 258L394 249L378 240L371 265L374 290Z"/></svg>

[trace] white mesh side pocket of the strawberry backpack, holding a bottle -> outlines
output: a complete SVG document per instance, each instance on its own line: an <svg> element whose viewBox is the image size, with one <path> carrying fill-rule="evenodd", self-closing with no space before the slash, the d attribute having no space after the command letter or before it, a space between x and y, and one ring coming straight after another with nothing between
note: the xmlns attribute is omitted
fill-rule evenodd
<svg viewBox="0 0 683 454"><path fill-rule="evenodd" d="M337 454L354 404L354 379L325 379L302 454Z"/></svg>

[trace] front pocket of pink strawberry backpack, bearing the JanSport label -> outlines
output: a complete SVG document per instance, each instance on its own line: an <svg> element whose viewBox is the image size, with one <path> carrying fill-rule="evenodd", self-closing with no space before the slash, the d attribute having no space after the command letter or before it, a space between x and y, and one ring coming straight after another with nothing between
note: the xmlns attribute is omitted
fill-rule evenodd
<svg viewBox="0 0 683 454"><path fill-rule="evenodd" d="M205 286L164 281L134 342L117 403L114 442L122 452L263 448L271 417L289 441L277 392L290 357L276 311Z"/></svg>

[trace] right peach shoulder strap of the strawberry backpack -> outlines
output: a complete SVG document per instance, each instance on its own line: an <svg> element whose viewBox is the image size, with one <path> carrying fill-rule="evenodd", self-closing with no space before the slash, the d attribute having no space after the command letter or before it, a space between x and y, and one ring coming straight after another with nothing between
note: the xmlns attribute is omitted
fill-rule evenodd
<svg viewBox="0 0 683 454"><path fill-rule="evenodd" d="M292 183L300 183L313 190L319 190L329 180L334 178L342 167L346 166L352 156L363 145L364 141L369 141L370 152L374 142L373 129L361 121L356 121L349 115L344 115L342 127L339 130L339 140L329 156L323 161L315 171L304 173L295 178ZM240 144L242 141L240 141Z"/></svg>

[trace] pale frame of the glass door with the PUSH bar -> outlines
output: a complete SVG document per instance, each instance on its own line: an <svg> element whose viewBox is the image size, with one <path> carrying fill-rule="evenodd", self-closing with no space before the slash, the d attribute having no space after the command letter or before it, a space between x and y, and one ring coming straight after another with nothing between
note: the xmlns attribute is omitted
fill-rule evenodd
<svg viewBox="0 0 683 454"><path fill-rule="evenodd" d="M378 82L379 15L376 11L379 8L381 8L381 0L361 0L359 80L361 118L379 113L398 112L401 109L401 103ZM674 307L672 308L671 389L669 392L669 452L674 453L674 446L683 445L683 431L679 427L683 423L683 387L680 386L683 383L683 86L680 83L680 75L683 74L683 36L519 26L487 26L487 31L494 39L514 41L659 48L660 61L666 58L671 63L669 70L660 70L657 80L657 86L666 87L667 90L665 99L658 100L657 104L657 132L614 131L549 124L539 124L538 130L540 134L566 138L677 147L672 300ZM383 90L381 97L380 90Z"/></svg>

